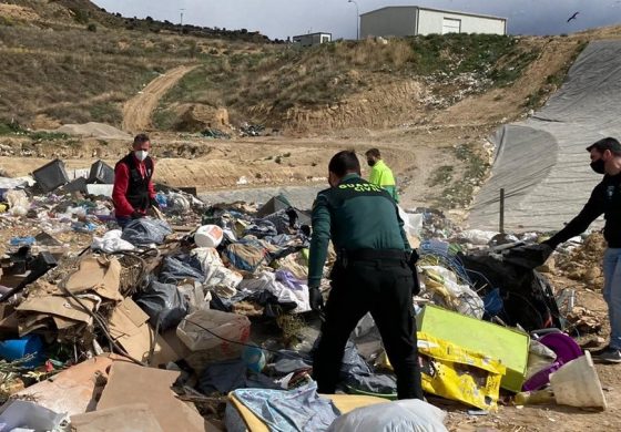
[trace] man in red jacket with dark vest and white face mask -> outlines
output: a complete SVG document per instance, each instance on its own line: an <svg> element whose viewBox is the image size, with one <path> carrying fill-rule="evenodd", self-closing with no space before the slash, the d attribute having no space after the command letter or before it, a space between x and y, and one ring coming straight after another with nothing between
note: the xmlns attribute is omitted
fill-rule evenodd
<svg viewBox="0 0 621 432"><path fill-rule="evenodd" d="M112 202L121 228L132 219L146 216L149 207L159 207L153 187L153 160L149 157L151 141L145 134L136 135L132 152L114 167Z"/></svg>

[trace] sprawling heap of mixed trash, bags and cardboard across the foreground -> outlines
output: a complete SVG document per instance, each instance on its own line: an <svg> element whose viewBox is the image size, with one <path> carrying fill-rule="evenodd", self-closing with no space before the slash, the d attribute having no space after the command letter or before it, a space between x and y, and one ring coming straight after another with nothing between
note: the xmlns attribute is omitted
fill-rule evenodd
<svg viewBox="0 0 621 432"><path fill-rule="evenodd" d="M389 402L396 379L370 316L347 343L343 394L317 393L310 218L285 196L207 206L159 185L163 217L120 229L109 196L88 192L110 186L105 166L95 164L71 192L61 161L42 168L34 182L7 181L2 194L0 220L38 220L39 234L8 240L2 261L1 430L348 431L383 430L388 418L408 430L447 430L446 413L427 402ZM516 245L542 237L465 232L438 210L417 212L400 214L419 245L413 301L430 400L493 412L507 398L531 403L544 394L549 403L605 409L589 353L562 331L568 322L582 330L589 311L568 308L542 274L516 259ZM75 233L88 236L85 247L55 239ZM328 255L325 296L336 258ZM588 389L583 398L570 397L578 385Z"/></svg>

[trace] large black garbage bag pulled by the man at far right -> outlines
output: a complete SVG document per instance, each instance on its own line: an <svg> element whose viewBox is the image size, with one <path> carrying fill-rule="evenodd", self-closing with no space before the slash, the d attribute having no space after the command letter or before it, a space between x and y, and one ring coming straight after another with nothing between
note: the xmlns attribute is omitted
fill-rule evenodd
<svg viewBox="0 0 621 432"><path fill-rule="evenodd" d="M550 282L537 270L487 253L460 254L459 258L479 296L485 297L498 288L503 305L498 317L506 323L520 325L527 331L562 328Z"/></svg>

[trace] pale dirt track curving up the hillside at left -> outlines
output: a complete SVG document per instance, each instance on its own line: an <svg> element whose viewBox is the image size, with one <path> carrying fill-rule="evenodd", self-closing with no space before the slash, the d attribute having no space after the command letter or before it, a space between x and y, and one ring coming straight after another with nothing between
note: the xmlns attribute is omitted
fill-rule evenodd
<svg viewBox="0 0 621 432"><path fill-rule="evenodd" d="M149 130L151 114L160 99L195 65L182 65L167 71L151 81L142 92L125 102L123 106L123 131L138 133Z"/></svg>

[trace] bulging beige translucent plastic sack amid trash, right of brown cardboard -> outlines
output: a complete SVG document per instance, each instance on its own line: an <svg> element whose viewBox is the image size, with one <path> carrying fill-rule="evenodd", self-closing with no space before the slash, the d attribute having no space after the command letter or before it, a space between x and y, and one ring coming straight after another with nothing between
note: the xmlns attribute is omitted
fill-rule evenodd
<svg viewBox="0 0 621 432"><path fill-rule="evenodd" d="M247 317L213 309L201 309L189 315L176 328L176 336L192 351L227 350L232 342L221 338L245 343L250 335L251 321Z"/></svg>

